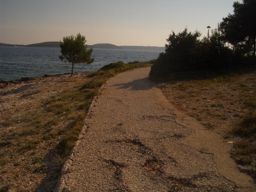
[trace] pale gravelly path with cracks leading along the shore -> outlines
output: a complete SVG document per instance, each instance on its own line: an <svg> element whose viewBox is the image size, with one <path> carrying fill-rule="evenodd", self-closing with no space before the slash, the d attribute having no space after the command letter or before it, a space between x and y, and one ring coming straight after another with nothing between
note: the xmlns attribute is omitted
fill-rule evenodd
<svg viewBox="0 0 256 192"><path fill-rule="evenodd" d="M102 87L56 191L254 191L228 144L176 111L149 71L118 74Z"/></svg>

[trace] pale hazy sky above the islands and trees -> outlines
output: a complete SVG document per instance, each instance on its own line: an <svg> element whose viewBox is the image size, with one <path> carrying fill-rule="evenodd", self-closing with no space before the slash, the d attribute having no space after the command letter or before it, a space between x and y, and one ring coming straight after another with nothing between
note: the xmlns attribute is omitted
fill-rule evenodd
<svg viewBox="0 0 256 192"><path fill-rule="evenodd" d="M164 46L172 30L207 34L235 0L0 0L0 42L59 41L80 32L87 44ZM242 0L239 0L242 2Z"/></svg>

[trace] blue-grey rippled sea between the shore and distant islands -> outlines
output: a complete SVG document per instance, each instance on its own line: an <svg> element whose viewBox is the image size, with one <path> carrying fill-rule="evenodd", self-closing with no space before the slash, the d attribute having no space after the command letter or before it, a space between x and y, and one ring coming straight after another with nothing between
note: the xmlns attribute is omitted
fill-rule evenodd
<svg viewBox="0 0 256 192"><path fill-rule="evenodd" d="M148 61L156 59L158 51L94 49L92 64L75 64L74 72L96 71L117 62ZM0 80L21 77L54 75L71 72L71 64L61 62L60 48L0 47Z"/></svg>

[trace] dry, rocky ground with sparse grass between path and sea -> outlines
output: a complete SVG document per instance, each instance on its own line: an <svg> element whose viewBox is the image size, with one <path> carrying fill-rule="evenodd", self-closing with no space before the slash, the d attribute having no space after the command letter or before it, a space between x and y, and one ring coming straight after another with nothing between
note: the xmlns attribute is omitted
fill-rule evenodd
<svg viewBox="0 0 256 192"><path fill-rule="evenodd" d="M53 189L100 86L119 72L150 66L152 62L116 62L72 78L62 75L32 80L27 82L33 85L32 90L7 95L0 116L1 190ZM23 96L31 91L34 94ZM29 186L24 180L30 182Z"/></svg>

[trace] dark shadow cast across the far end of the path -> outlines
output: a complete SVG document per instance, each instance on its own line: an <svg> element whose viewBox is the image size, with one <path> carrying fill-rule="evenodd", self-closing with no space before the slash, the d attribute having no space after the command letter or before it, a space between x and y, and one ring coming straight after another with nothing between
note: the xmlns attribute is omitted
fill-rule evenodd
<svg viewBox="0 0 256 192"><path fill-rule="evenodd" d="M128 83L114 84L113 87L118 89L130 89L130 90L149 90L155 87L156 84L148 80L148 78L136 79Z"/></svg>

